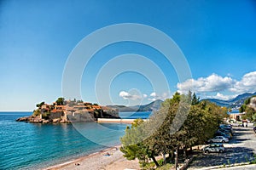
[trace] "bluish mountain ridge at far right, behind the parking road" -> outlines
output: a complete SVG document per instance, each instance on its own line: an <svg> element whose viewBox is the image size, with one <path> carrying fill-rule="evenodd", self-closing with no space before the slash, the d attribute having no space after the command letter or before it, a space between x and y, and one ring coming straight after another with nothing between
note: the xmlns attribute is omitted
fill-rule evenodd
<svg viewBox="0 0 256 170"><path fill-rule="evenodd" d="M216 105L220 106L225 106L233 109L239 109L241 105L244 103L244 100L248 99L249 97L252 97L256 95L256 92L253 94L245 93L245 94L240 94L236 96L234 99L228 99L228 100L223 100L223 99L202 99L202 100L208 100L213 103L216 103Z"/></svg>

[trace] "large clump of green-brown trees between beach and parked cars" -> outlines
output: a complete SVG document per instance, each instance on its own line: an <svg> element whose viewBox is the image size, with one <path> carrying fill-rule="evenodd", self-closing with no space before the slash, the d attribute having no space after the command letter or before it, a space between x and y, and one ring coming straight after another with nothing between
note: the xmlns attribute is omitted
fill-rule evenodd
<svg viewBox="0 0 256 170"><path fill-rule="evenodd" d="M188 149L212 138L226 116L227 109L208 101L200 102L191 92L176 93L147 122L138 119L126 128L125 136L120 139L121 151L128 160L137 158L143 168L150 161L160 167L155 156L163 156L163 165L174 162L177 167L178 159L187 157Z"/></svg>

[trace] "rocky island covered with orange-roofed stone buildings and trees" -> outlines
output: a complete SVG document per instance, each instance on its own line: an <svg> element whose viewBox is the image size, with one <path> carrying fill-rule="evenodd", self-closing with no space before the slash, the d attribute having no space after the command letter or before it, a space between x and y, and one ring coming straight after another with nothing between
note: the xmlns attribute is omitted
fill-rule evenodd
<svg viewBox="0 0 256 170"><path fill-rule="evenodd" d="M98 118L120 118L117 109L92 104L82 100L58 98L52 104L41 102L36 105L32 116L20 117L17 122L68 123L96 122Z"/></svg>

